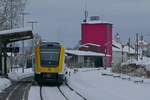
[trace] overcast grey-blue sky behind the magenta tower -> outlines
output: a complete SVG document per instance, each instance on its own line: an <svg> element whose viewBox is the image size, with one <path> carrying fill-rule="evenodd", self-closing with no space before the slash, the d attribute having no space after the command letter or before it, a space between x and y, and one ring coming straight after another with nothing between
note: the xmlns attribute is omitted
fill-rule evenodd
<svg viewBox="0 0 150 100"><path fill-rule="evenodd" d="M81 38L85 4L89 16L111 21L113 35L120 33L123 41L141 32L150 41L150 0L28 0L25 19L38 21L34 31L43 39L73 47Z"/></svg>

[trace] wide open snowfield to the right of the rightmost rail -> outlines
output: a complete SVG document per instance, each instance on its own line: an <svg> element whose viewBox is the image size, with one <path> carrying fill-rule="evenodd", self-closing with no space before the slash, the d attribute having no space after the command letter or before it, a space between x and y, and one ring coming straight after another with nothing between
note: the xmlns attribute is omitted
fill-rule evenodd
<svg viewBox="0 0 150 100"><path fill-rule="evenodd" d="M134 83L132 80L102 76L102 72L79 70L71 74L68 83L88 100L149 100L149 79L144 79L143 84Z"/></svg>

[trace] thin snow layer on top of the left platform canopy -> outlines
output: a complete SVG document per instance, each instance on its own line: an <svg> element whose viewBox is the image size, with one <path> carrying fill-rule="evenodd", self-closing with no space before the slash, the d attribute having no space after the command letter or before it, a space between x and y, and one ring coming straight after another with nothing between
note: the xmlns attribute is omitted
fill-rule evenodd
<svg viewBox="0 0 150 100"><path fill-rule="evenodd" d="M4 30L4 31L0 31L0 34L10 34L10 33L26 32L26 31L32 31L32 28L24 27L24 28L17 28L11 30Z"/></svg>

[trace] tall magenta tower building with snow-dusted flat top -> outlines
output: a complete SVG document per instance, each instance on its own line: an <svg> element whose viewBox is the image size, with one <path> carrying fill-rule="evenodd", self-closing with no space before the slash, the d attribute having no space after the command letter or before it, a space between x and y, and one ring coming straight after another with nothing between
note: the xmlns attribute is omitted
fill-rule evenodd
<svg viewBox="0 0 150 100"><path fill-rule="evenodd" d="M93 43L100 45L100 53L110 55L107 57L107 66L112 66L112 24L91 17L90 21L81 25L81 44Z"/></svg>

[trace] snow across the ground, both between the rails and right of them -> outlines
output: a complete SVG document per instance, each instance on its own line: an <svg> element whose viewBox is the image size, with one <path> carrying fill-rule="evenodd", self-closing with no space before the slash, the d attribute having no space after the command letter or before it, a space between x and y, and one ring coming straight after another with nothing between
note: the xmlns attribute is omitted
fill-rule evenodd
<svg viewBox="0 0 150 100"><path fill-rule="evenodd" d="M82 68L77 72L69 69L68 84L87 100L149 100L150 79L114 74L111 68ZM102 75L102 73L106 75ZM120 77L114 77L120 76ZM130 78L126 79L125 78ZM141 81L136 83L134 81ZM32 86L28 100L40 100L39 86ZM82 100L66 85L60 89L69 100ZM55 86L44 86L42 89L44 100L64 100L64 97Z"/></svg>

